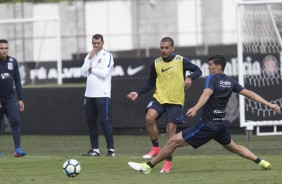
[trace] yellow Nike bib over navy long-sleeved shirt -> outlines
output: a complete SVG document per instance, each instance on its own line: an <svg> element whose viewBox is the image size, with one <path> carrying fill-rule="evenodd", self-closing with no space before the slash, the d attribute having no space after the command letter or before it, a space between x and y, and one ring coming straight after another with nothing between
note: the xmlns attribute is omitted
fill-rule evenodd
<svg viewBox="0 0 282 184"><path fill-rule="evenodd" d="M183 56L173 53L167 59L157 58L151 64L149 80L142 88L137 90L137 93L141 95L156 87L153 97L160 104L178 104L183 106L186 71L193 72L188 76L191 80L195 80L202 75L200 68Z"/></svg>

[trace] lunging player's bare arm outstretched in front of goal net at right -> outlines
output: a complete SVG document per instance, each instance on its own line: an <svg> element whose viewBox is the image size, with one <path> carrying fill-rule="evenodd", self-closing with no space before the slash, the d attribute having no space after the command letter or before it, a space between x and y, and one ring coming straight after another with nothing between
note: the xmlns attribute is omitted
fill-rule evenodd
<svg viewBox="0 0 282 184"><path fill-rule="evenodd" d="M268 106L269 108L271 108L274 112L276 113L281 113L280 111L280 107L277 104L273 104L268 102L267 100L265 100L264 98L262 98L259 94L248 90L248 89L243 89L242 91L239 92L239 94L249 98L250 100L262 103L266 106Z"/></svg>

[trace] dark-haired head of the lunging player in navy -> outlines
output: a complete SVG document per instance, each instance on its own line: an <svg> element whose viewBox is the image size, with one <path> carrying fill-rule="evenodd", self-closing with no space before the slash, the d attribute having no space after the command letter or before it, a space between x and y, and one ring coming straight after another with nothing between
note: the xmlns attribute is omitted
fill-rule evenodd
<svg viewBox="0 0 282 184"><path fill-rule="evenodd" d="M208 58L208 69L210 74L223 73L226 66L226 60L221 55L214 55Z"/></svg>

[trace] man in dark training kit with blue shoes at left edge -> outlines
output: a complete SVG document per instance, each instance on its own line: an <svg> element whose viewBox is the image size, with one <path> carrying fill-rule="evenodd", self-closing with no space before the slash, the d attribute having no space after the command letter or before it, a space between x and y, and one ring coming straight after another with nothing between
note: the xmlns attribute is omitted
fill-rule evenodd
<svg viewBox="0 0 282 184"><path fill-rule="evenodd" d="M9 43L5 39L0 40L0 122L4 114L8 118L15 145L15 157L25 156L26 152L21 149L20 114L24 110L21 78L18 62L8 55ZM13 90L15 83L18 101ZM0 126L1 128L1 126ZM0 156L2 152L0 151Z"/></svg>

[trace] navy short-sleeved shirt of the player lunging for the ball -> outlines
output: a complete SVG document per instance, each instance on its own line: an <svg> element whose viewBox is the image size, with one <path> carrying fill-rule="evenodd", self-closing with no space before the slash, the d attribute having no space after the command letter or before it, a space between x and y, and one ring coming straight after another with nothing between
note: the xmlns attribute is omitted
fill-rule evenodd
<svg viewBox="0 0 282 184"><path fill-rule="evenodd" d="M202 108L202 119L207 121L224 121L226 106L232 92L239 93L244 89L237 81L225 74L207 76L204 88L213 90Z"/></svg>

